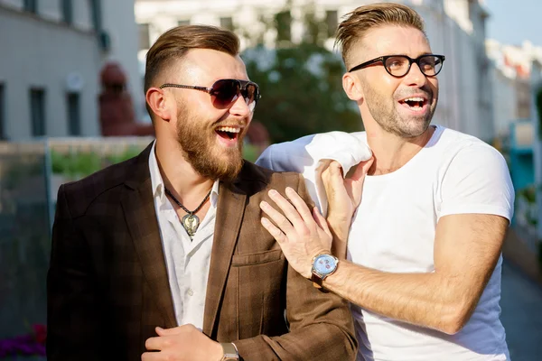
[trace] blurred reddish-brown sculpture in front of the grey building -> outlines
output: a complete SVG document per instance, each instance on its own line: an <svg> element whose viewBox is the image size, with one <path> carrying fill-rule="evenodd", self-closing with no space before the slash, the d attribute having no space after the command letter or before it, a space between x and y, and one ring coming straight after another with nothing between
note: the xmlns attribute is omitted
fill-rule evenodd
<svg viewBox="0 0 542 361"><path fill-rule="evenodd" d="M99 123L103 136L154 135L151 124L137 123L126 75L116 62L108 62L100 72L102 92L98 97Z"/></svg>

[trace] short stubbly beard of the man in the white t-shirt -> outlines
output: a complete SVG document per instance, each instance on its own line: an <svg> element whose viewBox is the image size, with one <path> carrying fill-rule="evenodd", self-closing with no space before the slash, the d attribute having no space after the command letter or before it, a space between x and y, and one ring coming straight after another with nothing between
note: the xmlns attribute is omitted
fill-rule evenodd
<svg viewBox="0 0 542 361"><path fill-rule="evenodd" d="M438 93L430 88L421 88L416 91L416 94L424 92L427 97L427 106L429 111L423 116L411 116L403 118L397 113L396 99L384 98L370 87L365 87L365 101L369 108L369 112L373 119L380 125L382 129L391 134L396 134L401 138L415 138L427 130L431 124L431 119L435 114L436 101L433 99L438 97ZM405 97L405 96L402 96Z"/></svg>

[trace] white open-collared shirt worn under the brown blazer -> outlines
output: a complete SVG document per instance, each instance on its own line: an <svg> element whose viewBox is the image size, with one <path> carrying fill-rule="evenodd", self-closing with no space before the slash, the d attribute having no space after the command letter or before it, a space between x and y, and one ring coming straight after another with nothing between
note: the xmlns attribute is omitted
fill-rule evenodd
<svg viewBox="0 0 542 361"><path fill-rule="evenodd" d="M158 168L155 143L149 156L149 170L153 187L154 208L160 228L165 265L173 295L175 319L179 326L192 323L203 328L210 252L219 200L219 180L210 192L210 208L201 220L200 227L191 241L181 225L172 203L164 192L164 180Z"/></svg>

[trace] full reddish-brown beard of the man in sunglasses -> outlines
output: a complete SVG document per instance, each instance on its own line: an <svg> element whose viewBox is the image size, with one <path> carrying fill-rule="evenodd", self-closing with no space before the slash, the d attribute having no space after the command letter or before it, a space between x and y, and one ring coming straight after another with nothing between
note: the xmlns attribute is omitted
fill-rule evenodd
<svg viewBox="0 0 542 361"><path fill-rule="evenodd" d="M177 115L177 141L192 168L210 180L235 180L243 166L243 137L238 134L237 148L222 148L216 142L213 127L205 126L204 119L190 116L181 106Z"/></svg>

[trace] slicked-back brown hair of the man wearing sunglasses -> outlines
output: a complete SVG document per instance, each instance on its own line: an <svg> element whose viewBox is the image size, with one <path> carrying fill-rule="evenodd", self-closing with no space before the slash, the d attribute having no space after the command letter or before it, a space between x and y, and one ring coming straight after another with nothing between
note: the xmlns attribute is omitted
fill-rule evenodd
<svg viewBox="0 0 542 361"><path fill-rule="evenodd" d="M239 38L234 32L210 25L181 25L164 32L146 54L145 94L155 86L155 79L163 71L192 49L210 49L237 56ZM150 107L146 107L152 117Z"/></svg>

